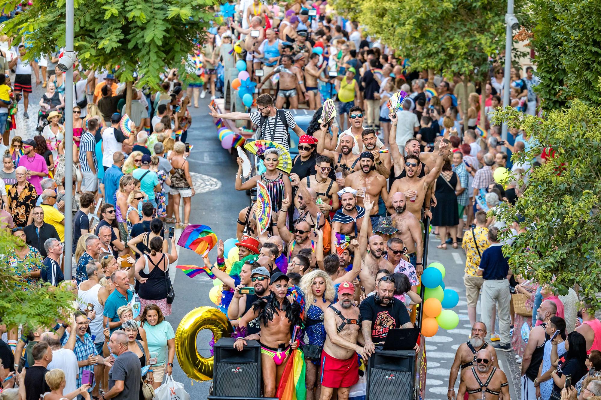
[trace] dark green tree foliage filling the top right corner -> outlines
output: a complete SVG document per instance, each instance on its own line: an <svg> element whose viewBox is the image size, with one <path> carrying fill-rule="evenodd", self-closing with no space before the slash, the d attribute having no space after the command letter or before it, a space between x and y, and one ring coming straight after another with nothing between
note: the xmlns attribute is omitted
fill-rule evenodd
<svg viewBox="0 0 601 400"><path fill-rule="evenodd" d="M532 0L535 16L531 45L536 52L537 92L546 110L574 98L601 103L601 2L596 0Z"/></svg>

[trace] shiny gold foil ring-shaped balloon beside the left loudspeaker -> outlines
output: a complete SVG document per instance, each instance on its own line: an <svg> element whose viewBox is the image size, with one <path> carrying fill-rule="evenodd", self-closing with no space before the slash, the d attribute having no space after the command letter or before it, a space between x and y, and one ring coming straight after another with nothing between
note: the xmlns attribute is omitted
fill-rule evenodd
<svg viewBox="0 0 601 400"><path fill-rule="evenodd" d="M215 342L233 332L230 321L215 307L195 308L177 326L175 332L175 354L177 362L189 378L199 381L213 379L213 356L198 354L196 336L202 329L209 329Z"/></svg>

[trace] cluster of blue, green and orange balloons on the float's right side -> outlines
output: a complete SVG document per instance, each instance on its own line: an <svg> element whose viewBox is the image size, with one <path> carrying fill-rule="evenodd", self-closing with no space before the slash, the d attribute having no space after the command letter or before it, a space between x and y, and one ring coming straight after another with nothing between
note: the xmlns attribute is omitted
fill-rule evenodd
<svg viewBox="0 0 601 400"><path fill-rule="evenodd" d="M454 290L445 289L445 283L442 281L445 274L444 265L440 262L432 262L421 275L421 284L425 287L423 304L425 318L421 322L421 333L427 338L436 335L438 327L449 330L459 324L459 315L450 310L459 303L459 294Z"/></svg>

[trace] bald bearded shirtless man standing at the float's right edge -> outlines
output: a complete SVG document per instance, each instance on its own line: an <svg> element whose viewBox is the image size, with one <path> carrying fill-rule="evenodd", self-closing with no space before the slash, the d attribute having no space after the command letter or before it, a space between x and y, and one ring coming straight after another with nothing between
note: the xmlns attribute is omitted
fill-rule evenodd
<svg viewBox="0 0 601 400"><path fill-rule="evenodd" d="M415 265L415 273L417 276L420 276L424 271L424 266L422 265L424 237L421 225L419 225L419 220L407 210L407 198L403 192L394 193L391 199L392 208L394 208L392 226L397 228L396 236L407 247L409 262Z"/></svg>

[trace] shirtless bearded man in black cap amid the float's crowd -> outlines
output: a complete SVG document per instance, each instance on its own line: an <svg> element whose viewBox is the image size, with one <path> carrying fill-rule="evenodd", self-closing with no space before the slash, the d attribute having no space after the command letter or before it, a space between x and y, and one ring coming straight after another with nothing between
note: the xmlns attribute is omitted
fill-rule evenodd
<svg viewBox="0 0 601 400"><path fill-rule="evenodd" d="M365 207L364 197L370 195L376 199L382 196L384 202L388 200L388 189L386 188L386 178L376 171L374 155L369 151L364 151L359 156L360 170L353 172L344 180L345 187L352 187L357 190L357 204ZM364 193L364 187L367 188L367 193ZM370 214L371 225L377 225L380 217L378 216L378 207L374 207Z"/></svg>

